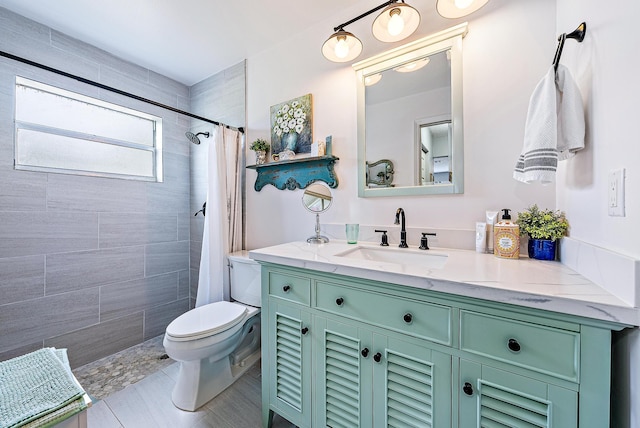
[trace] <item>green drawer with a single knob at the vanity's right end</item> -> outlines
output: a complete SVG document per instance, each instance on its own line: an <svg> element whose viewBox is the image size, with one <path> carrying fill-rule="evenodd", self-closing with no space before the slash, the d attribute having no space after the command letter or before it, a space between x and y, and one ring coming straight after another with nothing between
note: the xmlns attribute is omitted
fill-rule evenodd
<svg viewBox="0 0 640 428"><path fill-rule="evenodd" d="M574 382L579 380L577 332L463 310L460 348Z"/></svg>

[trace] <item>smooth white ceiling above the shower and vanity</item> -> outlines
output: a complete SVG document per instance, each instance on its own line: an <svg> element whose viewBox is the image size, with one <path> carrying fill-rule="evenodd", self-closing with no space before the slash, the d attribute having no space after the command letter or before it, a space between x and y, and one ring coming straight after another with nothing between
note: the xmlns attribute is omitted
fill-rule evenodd
<svg viewBox="0 0 640 428"><path fill-rule="evenodd" d="M382 0L0 0L0 7L191 86L283 38L328 21L326 39L334 26L382 3ZM461 22L438 16L435 0L408 3L422 17L412 38ZM388 48L372 40L372 20L367 17L346 27L365 44L363 55L368 49L379 48L379 52ZM320 54L322 42L319 40L317 46L310 48Z"/></svg>

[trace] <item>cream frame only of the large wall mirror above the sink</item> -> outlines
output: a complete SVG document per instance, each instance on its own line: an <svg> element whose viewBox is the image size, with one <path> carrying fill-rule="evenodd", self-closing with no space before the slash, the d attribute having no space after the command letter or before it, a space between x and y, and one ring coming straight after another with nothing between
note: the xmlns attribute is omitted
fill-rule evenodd
<svg viewBox="0 0 640 428"><path fill-rule="evenodd" d="M468 24L465 22L353 64L356 72L358 109L358 197L463 193L462 38L467 32ZM450 184L426 186L368 188L366 183L365 77L449 49L451 50L451 173L453 181Z"/></svg>

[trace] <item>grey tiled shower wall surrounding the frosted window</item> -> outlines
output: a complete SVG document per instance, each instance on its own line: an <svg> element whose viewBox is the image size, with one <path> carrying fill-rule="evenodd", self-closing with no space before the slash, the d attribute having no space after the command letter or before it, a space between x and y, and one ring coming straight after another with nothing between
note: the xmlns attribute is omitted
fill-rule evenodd
<svg viewBox="0 0 640 428"><path fill-rule="evenodd" d="M3 8L0 50L191 109L187 86ZM242 93L234 95L243 124L244 63L231 74L240 71ZM164 182L15 171L16 75L162 117ZM215 118L218 93L207 88L223 83L193 87L201 115ZM169 110L0 58L0 360L55 346L68 348L77 367L162 334L189 308L194 248L199 255L190 240L200 236L191 230L192 145L184 136L193 126Z"/></svg>

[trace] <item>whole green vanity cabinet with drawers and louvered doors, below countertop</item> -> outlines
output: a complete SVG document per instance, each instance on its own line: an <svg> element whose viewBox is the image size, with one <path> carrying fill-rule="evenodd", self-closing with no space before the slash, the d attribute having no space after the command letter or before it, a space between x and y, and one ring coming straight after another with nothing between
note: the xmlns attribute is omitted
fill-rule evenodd
<svg viewBox="0 0 640 428"><path fill-rule="evenodd" d="M263 426L603 428L606 321L262 264Z"/></svg>

